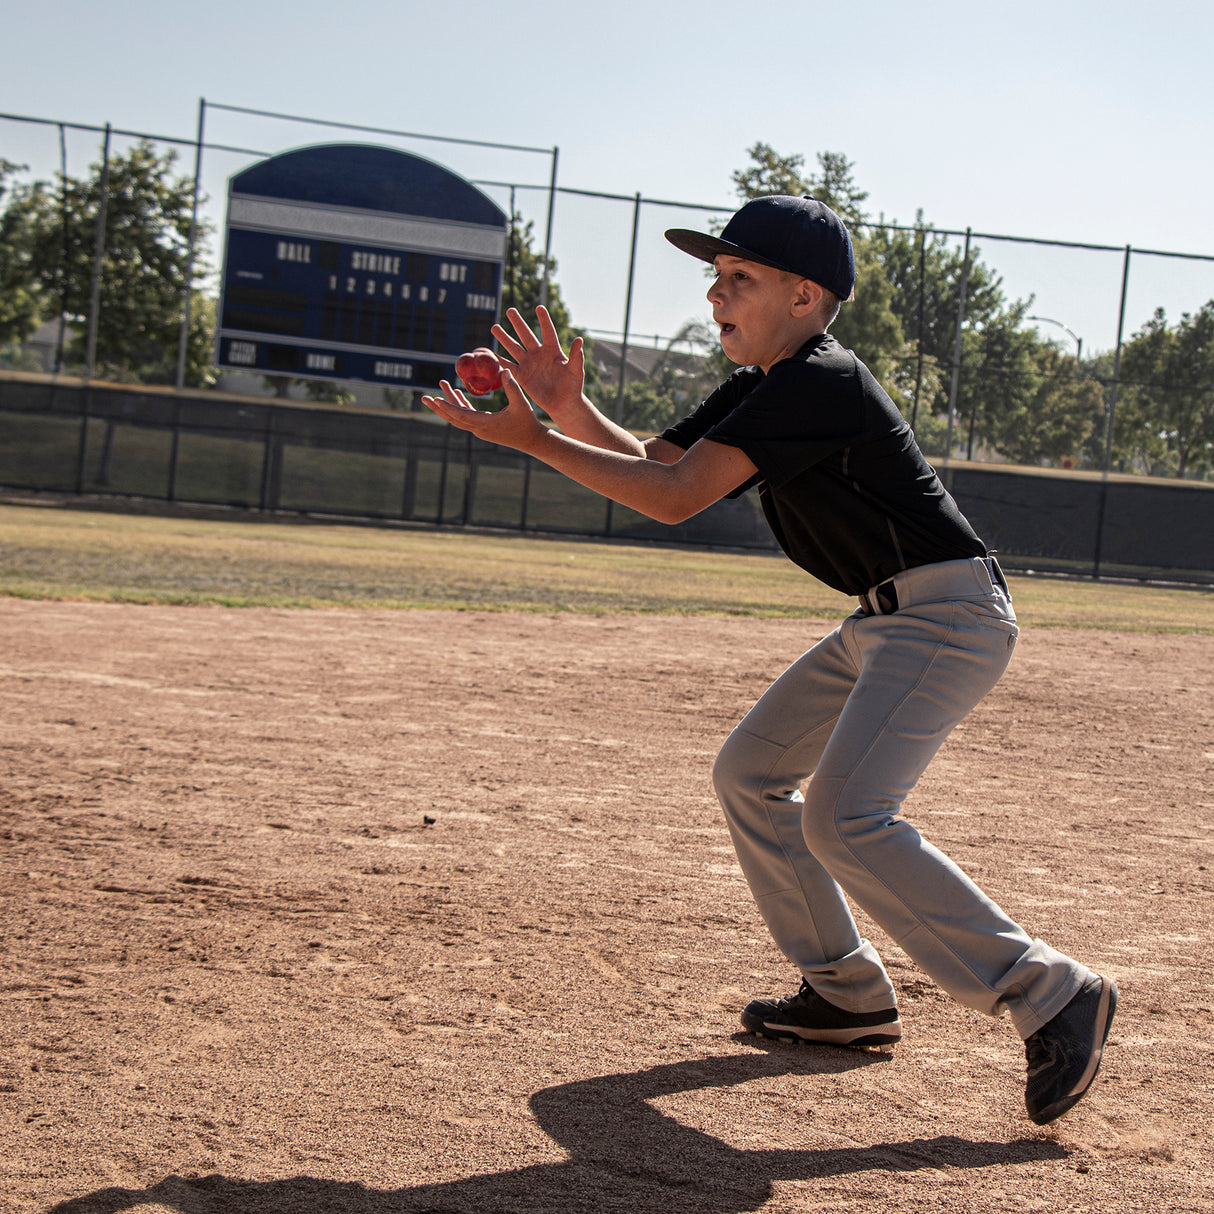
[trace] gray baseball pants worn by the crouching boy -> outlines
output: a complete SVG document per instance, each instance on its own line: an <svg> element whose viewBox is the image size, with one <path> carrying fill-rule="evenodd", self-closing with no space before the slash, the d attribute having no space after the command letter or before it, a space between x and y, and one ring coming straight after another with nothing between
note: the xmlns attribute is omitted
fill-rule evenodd
<svg viewBox="0 0 1214 1214"><path fill-rule="evenodd" d="M981 557L894 583L896 612L849 617L764 693L721 749L716 793L768 930L821 995L849 1011L896 1002L846 894L954 999L1006 1010L1027 1038L1090 971L1032 940L900 816L1006 669L1015 612Z"/></svg>

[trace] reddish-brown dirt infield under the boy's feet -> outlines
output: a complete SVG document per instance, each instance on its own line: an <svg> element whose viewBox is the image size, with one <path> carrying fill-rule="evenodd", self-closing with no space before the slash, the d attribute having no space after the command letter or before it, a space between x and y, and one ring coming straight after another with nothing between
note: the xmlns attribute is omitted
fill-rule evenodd
<svg viewBox="0 0 1214 1214"><path fill-rule="evenodd" d="M0 1210L1214 1210L1214 640L1026 632L908 804L1121 985L1039 1130L872 925L892 1054L737 1032L709 767L827 626L0 600Z"/></svg>

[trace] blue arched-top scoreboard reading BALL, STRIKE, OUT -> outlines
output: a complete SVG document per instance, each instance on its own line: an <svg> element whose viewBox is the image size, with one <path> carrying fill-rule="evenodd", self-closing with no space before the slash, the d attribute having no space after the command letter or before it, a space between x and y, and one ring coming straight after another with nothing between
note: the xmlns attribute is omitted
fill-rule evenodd
<svg viewBox="0 0 1214 1214"><path fill-rule="evenodd" d="M232 177L216 362L435 388L492 345L507 217L421 157L285 152Z"/></svg>

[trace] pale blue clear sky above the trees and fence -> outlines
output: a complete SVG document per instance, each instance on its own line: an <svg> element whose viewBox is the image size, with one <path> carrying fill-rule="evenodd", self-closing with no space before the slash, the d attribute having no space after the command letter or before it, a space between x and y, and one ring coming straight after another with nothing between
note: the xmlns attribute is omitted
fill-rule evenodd
<svg viewBox="0 0 1214 1214"><path fill-rule="evenodd" d="M42 0L6 15L0 112L277 153L318 142L401 147L478 182L515 183L539 243L557 148L556 280L574 323L654 344L707 318L698 265L662 237L711 211L646 203L628 307L634 197L736 204L755 142L812 168L841 152L873 216L986 233L1011 299L1074 352L1117 339L1124 246L1214 259L1214 6L1157 0L1019 5L892 0ZM217 106L387 127L409 140ZM473 147L506 143L538 152ZM123 146L119 141L115 146ZM68 132L68 171L98 136ZM0 120L0 157L58 168L55 126ZM192 149L182 171L192 172ZM256 157L209 151L205 215ZM506 208L504 186L483 187ZM1107 245L1077 250L1011 236ZM217 246L217 245L216 245ZM858 289L862 289L862 284ZM1214 297L1214 260L1135 254L1124 331ZM861 351L861 354L863 351Z"/></svg>

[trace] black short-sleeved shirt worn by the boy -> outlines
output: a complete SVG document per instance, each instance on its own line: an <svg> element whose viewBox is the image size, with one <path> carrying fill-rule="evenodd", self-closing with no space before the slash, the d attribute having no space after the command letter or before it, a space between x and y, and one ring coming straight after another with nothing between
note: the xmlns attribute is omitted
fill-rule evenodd
<svg viewBox="0 0 1214 1214"><path fill-rule="evenodd" d="M745 452L764 515L802 569L860 595L902 569L986 556L902 414L868 368L829 334L765 375L734 371L662 437Z"/></svg>

